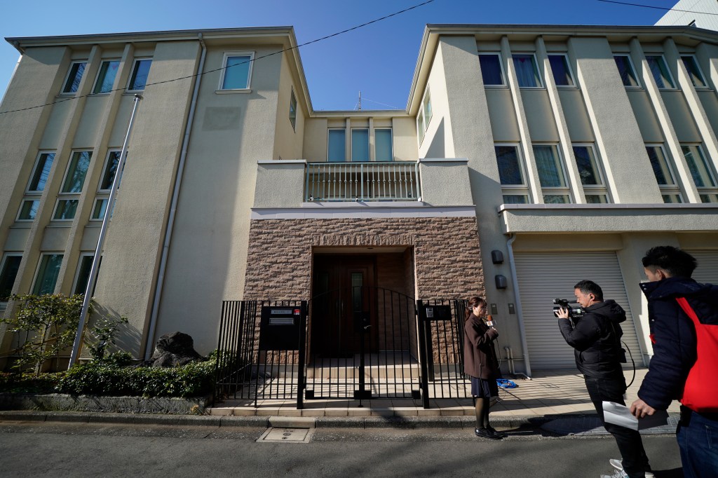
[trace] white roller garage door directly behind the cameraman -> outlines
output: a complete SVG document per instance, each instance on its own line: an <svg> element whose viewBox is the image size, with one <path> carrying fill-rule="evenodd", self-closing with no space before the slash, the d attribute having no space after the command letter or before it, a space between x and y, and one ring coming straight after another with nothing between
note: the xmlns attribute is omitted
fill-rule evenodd
<svg viewBox="0 0 718 478"><path fill-rule="evenodd" d="M604 299L613 299L625 309L627 320L621 324L623 341L633 354L633 360L637 361L636 365L643 365L615 253L516 253L515 259L532 370L576 367L574 350L561 336L551 301L556 298L575 300L574 284L584 279L597 283L603 290ZM632 367L628 355L627 358L626 366Z"/></svg>

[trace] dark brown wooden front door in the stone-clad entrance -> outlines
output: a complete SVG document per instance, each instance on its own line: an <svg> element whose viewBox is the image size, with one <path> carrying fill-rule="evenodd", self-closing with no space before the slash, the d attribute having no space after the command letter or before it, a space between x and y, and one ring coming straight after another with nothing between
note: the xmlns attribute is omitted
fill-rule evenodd
<svg viewBox="0 0 718 478"><path fill-rule="evenodd" d="M376 257L314 256L312 353L352 357L376 349Z"/></svg>

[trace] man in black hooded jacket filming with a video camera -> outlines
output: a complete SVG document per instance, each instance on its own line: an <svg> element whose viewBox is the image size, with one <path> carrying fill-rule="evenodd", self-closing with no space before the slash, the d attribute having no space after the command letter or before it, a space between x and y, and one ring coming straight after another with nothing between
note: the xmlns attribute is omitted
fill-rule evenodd
<svg viewBox="0 0 718 478"><path fill-rule="evenodd" d="M580 281L574 286L574 294L584 314L572 317L566 308L560 308L555 314L559 317L561 334L567 344L574 347L576 366L584 375L593 406L623 457L621 462L611 460L612 465L613 461L623 465L623 470L618 469L613 476L653 477L638 431L603 421L603 401L625 405L626 383L621 367L625 355L620 346L623 331L619 325L626 319L625 311L616 301L605 301L603 291L595 282Z"/></svg>

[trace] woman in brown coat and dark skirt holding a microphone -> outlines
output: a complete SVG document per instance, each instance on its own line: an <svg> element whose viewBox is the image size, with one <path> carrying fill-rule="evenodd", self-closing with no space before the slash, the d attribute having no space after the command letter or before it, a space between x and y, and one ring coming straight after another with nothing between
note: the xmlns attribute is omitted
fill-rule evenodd
<svg viewBox="0 0 718 478"><path fill-rule="evenodd" d="M489 425L489 400L498 396L496 379L499 377L498 360L493 342L498 332L484 322L486 301L480 297L469 299L464 324L464 372L471 376L471 395L476 408L476 436L498 440L506 434Z"/></svg>

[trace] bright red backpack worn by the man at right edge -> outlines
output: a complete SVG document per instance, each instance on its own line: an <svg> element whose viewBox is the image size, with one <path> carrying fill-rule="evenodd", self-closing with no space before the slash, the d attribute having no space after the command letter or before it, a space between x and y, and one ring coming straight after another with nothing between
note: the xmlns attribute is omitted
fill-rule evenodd
<svg viewBox="0 0 718 478"><path fill-rule="evenodd" d="M686 378L681 403L696 412L718 411L718 325L702 324L685 297L676 299L696 329L696 362Z"/></svg>

